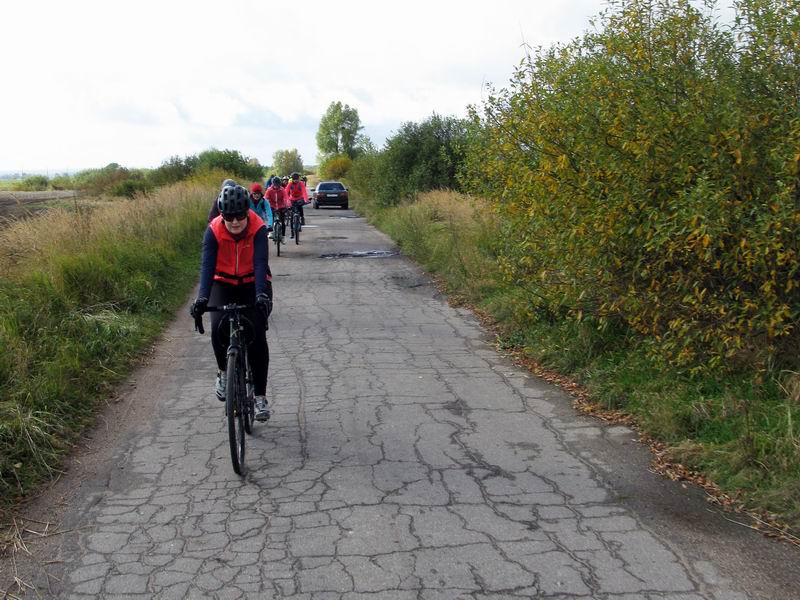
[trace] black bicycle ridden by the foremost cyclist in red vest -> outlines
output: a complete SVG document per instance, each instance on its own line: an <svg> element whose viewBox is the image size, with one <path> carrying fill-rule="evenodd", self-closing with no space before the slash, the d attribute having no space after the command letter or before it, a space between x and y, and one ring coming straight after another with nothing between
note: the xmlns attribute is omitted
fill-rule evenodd
<svg viewBox="0 0 800 600"><path fill-rule="evenodd" d="M255 393L253 375L247 359L247 340L244 338L245 326L252 323L241 315L241 311L252 308L253 304L226 304L208 306L206 312L223 312L228 316L230 342L228 344L227 369L225 371L225 416L228 421L228 442L231 449L231 463L237 475L244 475L245 437L253 433L255 420ZM222 327L224 320L219 322ZM194 320L195 331L205 333L203 317Z"/></svg>

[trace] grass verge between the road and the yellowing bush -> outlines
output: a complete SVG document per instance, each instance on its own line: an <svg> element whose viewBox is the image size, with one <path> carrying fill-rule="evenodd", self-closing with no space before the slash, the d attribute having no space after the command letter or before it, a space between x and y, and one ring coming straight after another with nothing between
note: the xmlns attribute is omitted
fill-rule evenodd
<svg viewBox="0 0 800 600"><path fill-rule="evenodd" d="M503 269L516 242L484 201L436 191L394 207L355 194L353 204L450 293L492 315L503 344L580 381L602 406L633 414L673 457L746 506L800 528L797 373L690 375L629 330L545 310Z"/></svg>

